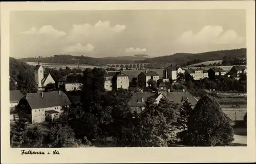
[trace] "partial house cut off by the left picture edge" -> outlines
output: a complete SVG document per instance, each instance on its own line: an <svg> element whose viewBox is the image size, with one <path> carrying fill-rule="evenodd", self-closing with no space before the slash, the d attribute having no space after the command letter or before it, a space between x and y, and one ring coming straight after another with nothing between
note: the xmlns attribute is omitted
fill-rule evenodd
<svg viewBox="0 0 256 164"><path fill-rule="evenodd" d="M16 106L18 105L18 102L20 99L23 98L22 92L19 90L12 90L10 91L10 120L15 121L17 120L17 114L16 114Z"/></svg>

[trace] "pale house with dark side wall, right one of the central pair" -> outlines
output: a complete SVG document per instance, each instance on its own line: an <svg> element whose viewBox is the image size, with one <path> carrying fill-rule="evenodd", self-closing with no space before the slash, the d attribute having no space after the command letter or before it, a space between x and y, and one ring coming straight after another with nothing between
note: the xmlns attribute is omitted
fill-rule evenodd
<svg viewBox="0 0 256 164"><path fill-rule="evenodd" d="M116 72L112 78L112 90L118 88L129 89L129 77L123 72Z"/></svg>

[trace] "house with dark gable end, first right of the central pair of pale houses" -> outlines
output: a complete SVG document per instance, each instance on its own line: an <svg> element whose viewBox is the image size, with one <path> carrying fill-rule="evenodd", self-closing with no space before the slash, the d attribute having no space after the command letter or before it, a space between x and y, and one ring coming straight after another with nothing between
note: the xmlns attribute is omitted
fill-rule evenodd
<svg viewBox="0 0 256 164"><path fill-rule="evenodd" d="M148 87L148 80L152 79L157 82L157 80L160 78L159 74L157 74L155 71L149 71L146 70L144 72L140 72L138 75L138 86L141 88Z"/></svg>

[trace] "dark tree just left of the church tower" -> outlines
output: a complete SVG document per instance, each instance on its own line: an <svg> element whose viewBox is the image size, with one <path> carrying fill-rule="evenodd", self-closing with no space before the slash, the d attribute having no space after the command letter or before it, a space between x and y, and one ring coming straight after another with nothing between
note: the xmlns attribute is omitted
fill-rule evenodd
<svg viewBox="0 0 256 164"><path fill-rule="evenodd" d="M17 82L17 89L20 90L20 92L22 92L24 95L27 93L37 92L35 79L31 71L20 71L17 76Z"/></svg>

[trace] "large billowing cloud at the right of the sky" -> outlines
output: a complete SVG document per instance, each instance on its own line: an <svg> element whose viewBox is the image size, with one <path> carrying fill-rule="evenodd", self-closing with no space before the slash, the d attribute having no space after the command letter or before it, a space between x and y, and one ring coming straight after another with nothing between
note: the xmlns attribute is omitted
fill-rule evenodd
<svg viewBox="0 0 256 164"><path fill-rule="evenodd" d="M243 38L239 37L236 32L233 30L224 32L222 26L219 25L206 25L197 34L186 31L177 39L179 43L190 45L239 44L242 41Z"/></svg>

